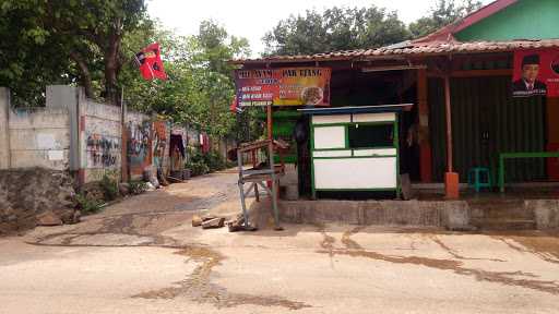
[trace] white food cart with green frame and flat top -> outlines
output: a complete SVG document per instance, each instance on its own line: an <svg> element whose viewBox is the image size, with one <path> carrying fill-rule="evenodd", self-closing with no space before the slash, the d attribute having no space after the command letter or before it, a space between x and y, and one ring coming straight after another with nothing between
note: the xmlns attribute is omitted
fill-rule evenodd
<svg viewBox="0 0 559 314"><path fill-rule="evenodd" d="M401 182L399 112L411 104L299 109L310 114L312 196L393 191Z"/></svg>

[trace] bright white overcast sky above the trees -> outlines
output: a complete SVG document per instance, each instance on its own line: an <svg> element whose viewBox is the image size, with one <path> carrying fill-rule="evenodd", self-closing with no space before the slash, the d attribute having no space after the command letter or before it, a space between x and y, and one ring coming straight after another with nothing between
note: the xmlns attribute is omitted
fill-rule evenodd
<svg viewBox="0 0 559 314"><path fill-rule="evenodd" d="M483 0L484 4L491 0ZM262 37L289 14L302 14L307 9L330 7L377 7L397 11L405 23L425 15L435 0L151 0L148 12L179 34L198 33L201 21L212 19L229 34L249 39L252 55L264 50Z"/></svg>

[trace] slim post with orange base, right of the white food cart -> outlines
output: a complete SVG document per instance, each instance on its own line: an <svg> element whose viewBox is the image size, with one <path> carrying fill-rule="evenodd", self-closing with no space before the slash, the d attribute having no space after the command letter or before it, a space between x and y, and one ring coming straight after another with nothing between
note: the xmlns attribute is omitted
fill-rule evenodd
<svg viewBox="0 0 559 314"><path fill-rule="evenodd" d="M459 173L454 172L454 167L452 164L452 107L449 72L447 72L444 75L444 111L447 113L447 173L444 176L444 190L447 198L459 198Z"/></svg>

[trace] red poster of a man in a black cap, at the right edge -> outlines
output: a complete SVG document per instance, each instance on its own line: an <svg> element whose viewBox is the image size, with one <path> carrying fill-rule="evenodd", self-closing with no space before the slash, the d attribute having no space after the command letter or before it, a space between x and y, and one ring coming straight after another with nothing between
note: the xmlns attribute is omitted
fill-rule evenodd
<svg viewBox="0 0 559 314"><path fill-rule="evenodd" d="M559 97L559 49L514 52L513 97Z"/></svg>

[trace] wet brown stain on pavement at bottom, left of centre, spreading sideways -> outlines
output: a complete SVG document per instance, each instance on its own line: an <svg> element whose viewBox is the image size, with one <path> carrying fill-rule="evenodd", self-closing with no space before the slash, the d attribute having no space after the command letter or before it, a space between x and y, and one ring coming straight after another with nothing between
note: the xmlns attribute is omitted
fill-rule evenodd
<svg viewBox="0 0 559 314"><path fill-rule="evenodd" d="M142 299L175 299L186 297L198 303L211 303L217 309L235 307L239 305L281 306L288 310L311 307L304 302L290 301L281 297L252 295L247 293L233 293L226 288L211 282L211 274L215 266L221 265L225 256L218 252L202 246L185 247L175 254L188 257L188 261L199 263L192 274L182 281L175 282L176 287L147 291L132 295Z"/></svg>

